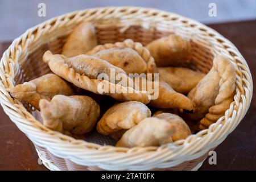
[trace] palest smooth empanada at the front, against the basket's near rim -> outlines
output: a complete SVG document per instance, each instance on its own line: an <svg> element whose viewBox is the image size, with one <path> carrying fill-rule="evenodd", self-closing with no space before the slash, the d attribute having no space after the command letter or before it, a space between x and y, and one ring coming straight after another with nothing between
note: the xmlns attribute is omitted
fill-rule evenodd
<svg viewBox="0 0 256 182"><path fill-rule="evenodd" d="M171 143L175 133L174 126L165 119L156 117L143 119L132 127L115 144L117 147L147 147Z"/></svg>

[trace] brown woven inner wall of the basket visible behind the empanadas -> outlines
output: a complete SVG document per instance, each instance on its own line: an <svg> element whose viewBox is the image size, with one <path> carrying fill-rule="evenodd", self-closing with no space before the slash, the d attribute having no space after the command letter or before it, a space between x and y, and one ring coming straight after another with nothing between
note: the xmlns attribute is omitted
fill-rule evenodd
<svg viewBox="0 0 256 182"><path fill-rule="evenodd" d="M104 24L102 21L96 21L94 24L96 26L98 44L115 43L121 42L125 39L133 39L135 42L141 42L145 46L152 40L158 39L162 36L167 36L170 34L181 35L189 39L192 45L192 54L189 56L192 64L186 66L195 71L200 71L203 73L207 73L210 68L212 68L214 51L211 49L212 46L210 45L210 42L208 42L208 45L201 43L204 42L204 40L202 40L203 38L197 36L195 32L192 33L189 31L189 28L184 29L184 27L169 26L165 30L163 30L163 28L159 30L155 27L145 28L138 25L129 25L129 27L125 27L116 23L108 22ZM161 27L161 25L158 26ZM22 84L24 81L30 81L36 77L40 77L46 73L51 72L48 68L48 65L42 61L43 54L47 50L50 50L53 53L61 53L67 36L72 31L72 27L67 28L66 31L62 30L62 34L56 36L56 38L49 39L49 41L44 41L46 43L42 43L43 41L40 42L40 39L46 39L47 36L42 36L42 38L39 38L37 42L31 43L31 46L36 43L39 45L33 51L21 56L22 59L19 59L19 63L16 63L15 68L17 70L14 78L15 85ZM123 28L125 28L125 31L123 31ZM48 34L48 36L51 36L51 33ZM104 102L107 103L109 101ZM39 121L41 120L40 115L35 112L34 108L25 103L23 105L35 116L36 119ZM87 134L85 140L103 145L114 145L115 143L114 139L111 137L103 136L97 133L96 130L93 130Z"/></svg>

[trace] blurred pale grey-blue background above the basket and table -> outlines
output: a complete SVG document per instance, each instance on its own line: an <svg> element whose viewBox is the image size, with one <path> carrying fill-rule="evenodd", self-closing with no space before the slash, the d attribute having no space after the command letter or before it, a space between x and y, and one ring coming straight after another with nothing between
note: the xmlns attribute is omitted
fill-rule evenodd
<svg viewBox="0 0 256 182"><path fill-rule="evenodd" d="M39 3L46 5L45 17L38 16ZM209 16L210 3L216 4L216 16ZM0 42L13 40L28 28L54 16L102 6L152 7L203 23L256 19L255 0L0 0Z"/></svg>

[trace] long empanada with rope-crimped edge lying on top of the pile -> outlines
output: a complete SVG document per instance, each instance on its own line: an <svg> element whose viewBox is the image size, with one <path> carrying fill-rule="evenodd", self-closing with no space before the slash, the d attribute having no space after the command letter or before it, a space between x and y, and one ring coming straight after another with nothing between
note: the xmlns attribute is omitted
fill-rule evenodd
<svg viewBox="0 0 256 182"><path fill-rule="evenodd" d="M112 81L111 78L117 75L122 75L121 80L129 81L131 78L121 68L115 67L108 61L88 55L67 58L63 55L52 55L50 51L44 53L43 60L48 63L52 72L79 88L97 94L105 94L119 101L139 101L144 104L150 102L149 93L118 84L120 80L117 80L116 77L114 83L110 82ZM108 78L106 80L97 79L101 75ZM102 86L104 86L104 89L102 89Z"/></svg>

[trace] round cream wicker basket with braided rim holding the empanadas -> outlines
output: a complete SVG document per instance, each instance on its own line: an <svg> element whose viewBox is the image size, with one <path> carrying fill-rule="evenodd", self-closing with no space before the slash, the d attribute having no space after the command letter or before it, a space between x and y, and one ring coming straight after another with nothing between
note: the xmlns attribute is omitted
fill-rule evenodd
<svg viewBox="0 0 256 182"><path fill-rule="evenodd" d="M48 49L60 53L67 35L82 20L96 25L100 44L127 38L147 44L169 34L185 36L192 43L191 68L207 73L215 55L228 56L236 65L237 88L225 115L187 139L160 147L121 148L76 140L49 130L32 115L32 107L13 100L8 90L49 72L42 61ZM0 64L0 101L19 129L35 144L39 158L52 170L190 170L198 169L208 151L220 144L246 114L253 94L253 81L237 48L211 28L183 16L141 7L104 7L75 11L30 28L3 53ZM104 141L103 141L104 143Z"/></svg>

